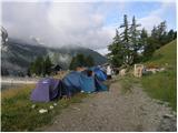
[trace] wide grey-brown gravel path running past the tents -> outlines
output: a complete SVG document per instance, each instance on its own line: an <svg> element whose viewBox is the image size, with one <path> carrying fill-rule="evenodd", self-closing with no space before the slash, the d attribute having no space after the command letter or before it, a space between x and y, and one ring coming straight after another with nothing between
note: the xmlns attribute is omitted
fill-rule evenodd
<svg viewBox="0 0 178 133"><path fill-rule="evenodd" d="M176 115L139 86L121 93L119 83L65 109L42 131L176 131Z"/></svg>

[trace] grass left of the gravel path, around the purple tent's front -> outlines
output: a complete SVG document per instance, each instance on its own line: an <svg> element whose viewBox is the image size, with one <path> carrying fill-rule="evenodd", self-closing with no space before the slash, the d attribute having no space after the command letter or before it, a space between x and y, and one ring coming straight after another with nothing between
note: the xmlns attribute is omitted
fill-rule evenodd
<svg viewBox="0 0 178 133"><path fill-rule="evenodd" d="M85 93L78 93L71 99L56 100L49 103L33 103L30 101L30 94L34 85L26 85L16 90L4 90L1 92L1 130L6 131L34 131L46 124L50 124L61 110L71 103L79 103L87 96ZM50 105L57 103L53 110ZM31 106L36 104L36 108ZM48 113L40 114L40 109L48 109Z"/></svg>

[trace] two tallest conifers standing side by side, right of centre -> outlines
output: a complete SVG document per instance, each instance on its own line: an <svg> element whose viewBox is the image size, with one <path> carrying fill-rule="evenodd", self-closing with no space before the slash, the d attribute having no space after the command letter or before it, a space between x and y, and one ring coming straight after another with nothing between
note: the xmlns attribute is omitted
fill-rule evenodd
<svg viewBox="0 0 178 133"><path fill-rule="evenodd" d="M116 30L113 42L108 47L109 51L111 51L108 55L112 64L118 63L118 66L121 64L131 65L138 61L138 51L141 48L140 31L137 30L139 25L136 23L135 17L130 25L127 16L123 16L123 24L119 27L123 31L119 34L118 30Z"/></svg>

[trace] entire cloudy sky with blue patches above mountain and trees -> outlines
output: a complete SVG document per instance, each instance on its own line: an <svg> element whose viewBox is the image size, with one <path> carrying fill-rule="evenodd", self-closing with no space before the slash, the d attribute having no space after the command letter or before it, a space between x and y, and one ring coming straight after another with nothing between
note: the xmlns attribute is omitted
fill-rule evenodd
<svg viewBox="0 0 178 133"><path fill-rule="evenodd" d="M148 31L166 20L176 30L176 0L2 0L1 25L9 37L36 38L49 47L81 45L107 53L107 45L122 23L132 16ZM85 1L85 0L83 0Z"/></svg>

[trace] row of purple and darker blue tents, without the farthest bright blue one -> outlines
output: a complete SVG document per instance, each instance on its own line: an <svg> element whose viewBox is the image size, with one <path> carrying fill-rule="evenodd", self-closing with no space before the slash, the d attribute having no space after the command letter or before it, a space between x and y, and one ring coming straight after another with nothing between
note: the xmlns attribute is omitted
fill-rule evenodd
<svg viewBox="0 0 178 133"><path fill-rule="evenodd" d="M70 72L62 80L52 78L43 79L37 83L31 93L31 100L36 102L49 102L56 98L71 96L78 92L108 91L98 76L88 76L86 72Z"/></svg>

